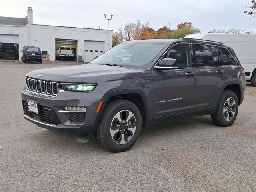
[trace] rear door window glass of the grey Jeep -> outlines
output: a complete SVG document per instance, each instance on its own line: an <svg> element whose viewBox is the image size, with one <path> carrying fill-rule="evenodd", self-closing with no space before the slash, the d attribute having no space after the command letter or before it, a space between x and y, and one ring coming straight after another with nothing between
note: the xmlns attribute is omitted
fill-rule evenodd
<svg viewBox="0 0 256 192"><path fill-rule="evenodd" d="M210 46L194 44L196 66L213 66L213 57Z"/></svg>

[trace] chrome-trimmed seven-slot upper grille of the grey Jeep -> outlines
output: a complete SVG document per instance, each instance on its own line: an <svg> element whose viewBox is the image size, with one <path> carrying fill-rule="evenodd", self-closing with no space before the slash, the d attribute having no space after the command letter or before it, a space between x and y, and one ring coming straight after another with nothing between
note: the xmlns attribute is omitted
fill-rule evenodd
<svg viewBox="0 0 256 192"><path fill-rule="evenodd" d="M56 96L58 94L58 83L26 78L26 90L37 94Z"/></svg>

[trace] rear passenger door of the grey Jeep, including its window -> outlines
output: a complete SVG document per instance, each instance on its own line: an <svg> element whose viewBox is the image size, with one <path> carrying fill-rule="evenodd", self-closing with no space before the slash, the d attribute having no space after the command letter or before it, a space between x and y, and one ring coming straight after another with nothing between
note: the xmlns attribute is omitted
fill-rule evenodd
<svg viewBox="0 0 256 192"><path fill-rule="evenodd" d="M194 113L215 110L227 74L215 46L193 44L193 48L197 66Z"/></svg>

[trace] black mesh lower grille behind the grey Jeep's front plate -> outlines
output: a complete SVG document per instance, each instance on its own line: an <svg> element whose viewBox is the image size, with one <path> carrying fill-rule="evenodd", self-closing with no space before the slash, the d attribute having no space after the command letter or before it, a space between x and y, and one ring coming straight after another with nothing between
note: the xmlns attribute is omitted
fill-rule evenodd
<svg viewBox="0 0 256 192"><path fill-rule="evenodd" d="M28 111L28 103L26 101L23 101L23 111L24 111L24 114L26 114L30 118L34 119L35 116L38 116L41 122L49 123L53 125L61 124L60 119L58 118L53 108L40 106L40 113L35 114Z"/></svg>

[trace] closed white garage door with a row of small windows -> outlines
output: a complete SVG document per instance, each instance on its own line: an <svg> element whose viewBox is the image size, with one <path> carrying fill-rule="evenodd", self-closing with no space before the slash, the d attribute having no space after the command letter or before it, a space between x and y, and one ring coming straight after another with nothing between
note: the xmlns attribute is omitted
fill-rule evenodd
<svg viewBox="0 0 256 192"><path fill-rule="evenodd" d="M91 62L96 56L104 53L104 41L84 41L84 62Z"/></svg>

